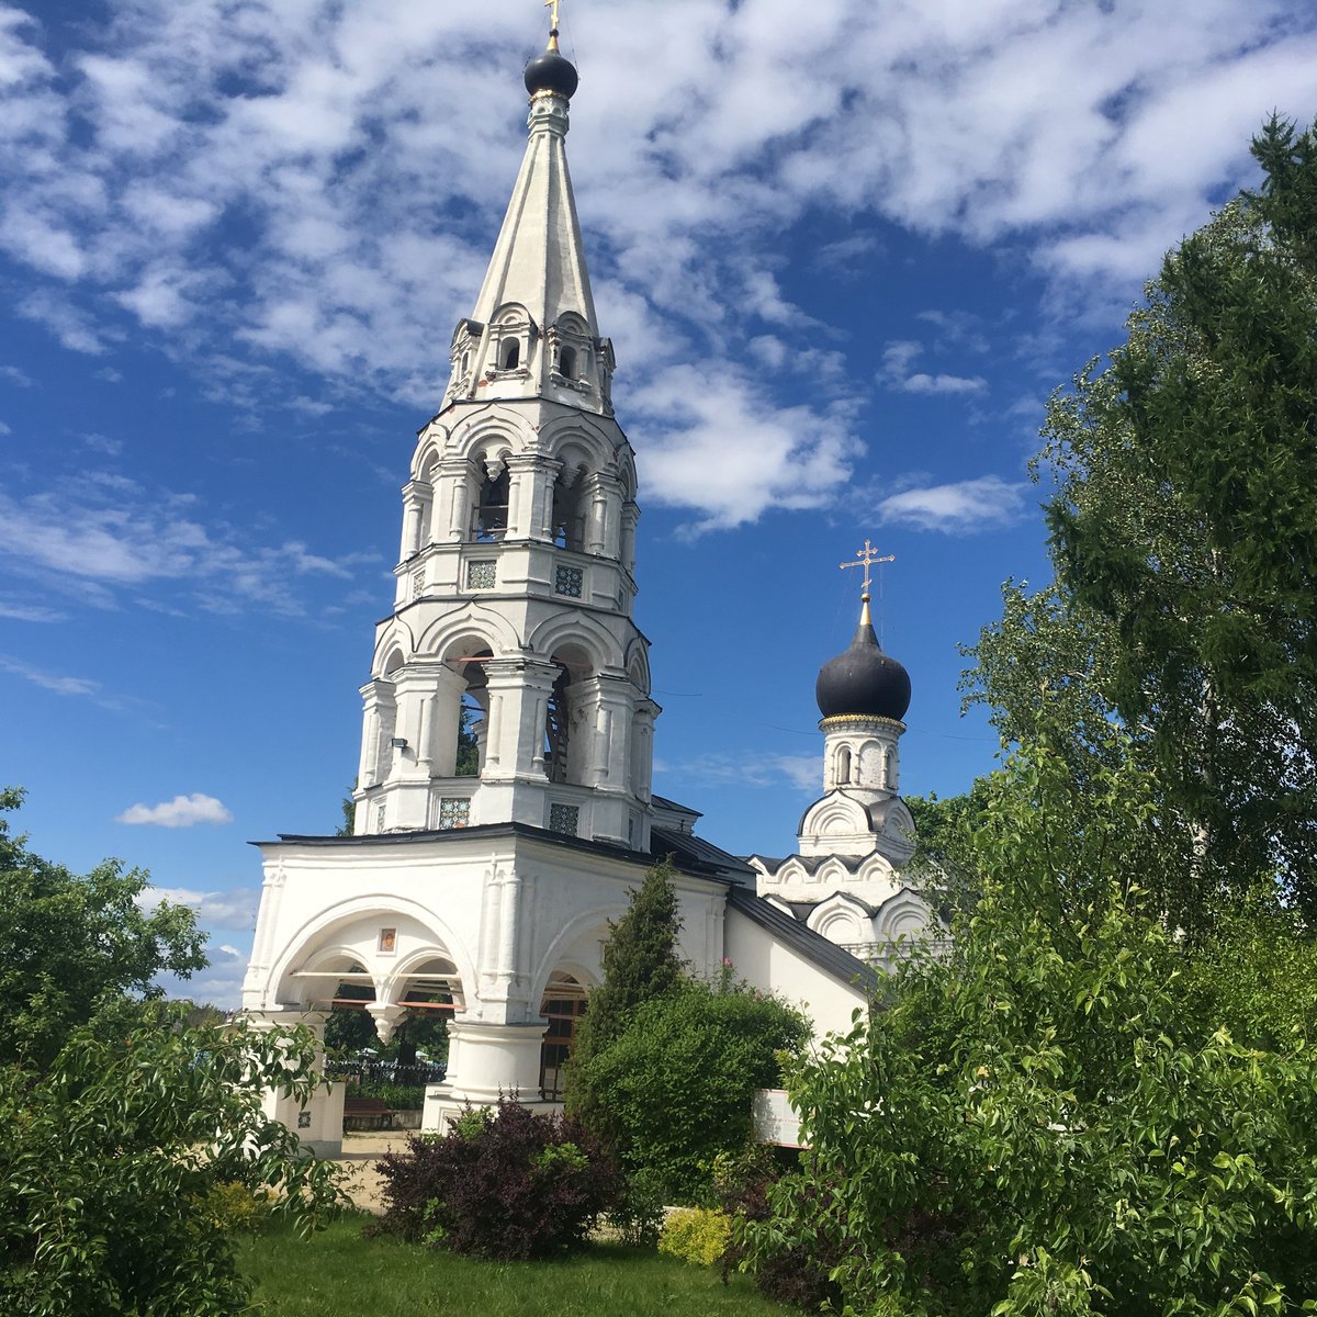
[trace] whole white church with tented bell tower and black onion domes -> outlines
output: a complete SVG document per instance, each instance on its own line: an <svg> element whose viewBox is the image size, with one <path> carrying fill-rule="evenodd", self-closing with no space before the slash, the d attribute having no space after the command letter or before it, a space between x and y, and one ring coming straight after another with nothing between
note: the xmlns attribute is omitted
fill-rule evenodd
<svg viewBox="0 0 1317 1317"><path fill-rule="evenodd" d="M636 469L564 150L576 87L554 30L525 68L525 157L402 490L392 611L361 690L356 835L259 847L244 1013L320 1029L350 988L385 1042L408 1011L449 1013L431 1130L500 1093L561 1100L610 921L657 860L676 869L693 972L730 959L819 1035L849 1026L894 940L935 918L902 878L910 680L878 647L867 589L818 676L822 795L795 853L728 855L695 835L697 810L651 790ZM311 1147L341 1146L342 1085L269 1102Z"/></svg>

